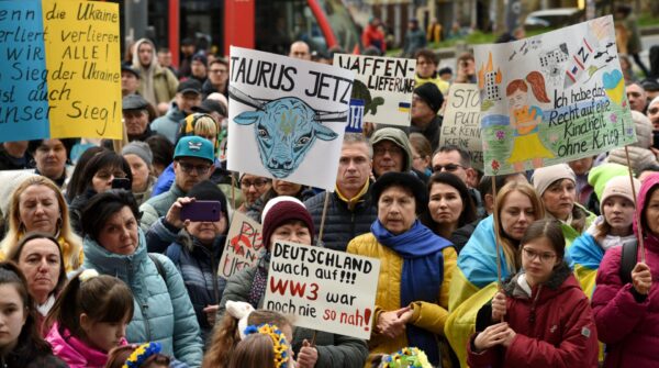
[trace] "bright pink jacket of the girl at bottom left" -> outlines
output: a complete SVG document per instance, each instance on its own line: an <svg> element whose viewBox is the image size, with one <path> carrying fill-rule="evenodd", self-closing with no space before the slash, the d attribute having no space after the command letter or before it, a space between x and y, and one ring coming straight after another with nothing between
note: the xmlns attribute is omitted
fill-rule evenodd
<svg viewBox="0 0 659 368"><path fill-rule="evenodd" d="M59 325L55 323L46 341L53 347L53 354L66 361L70 368L103 368L108 363L108 353L97 350L70 334L68 330L59 331ZM126 339L122 338L121 345L126 345Z"/></svg>

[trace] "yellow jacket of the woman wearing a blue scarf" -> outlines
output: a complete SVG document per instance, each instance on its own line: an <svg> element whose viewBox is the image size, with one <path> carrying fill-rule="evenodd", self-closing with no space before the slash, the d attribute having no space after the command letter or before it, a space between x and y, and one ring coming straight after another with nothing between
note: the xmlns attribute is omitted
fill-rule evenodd
<svg viewBox="0 0 659 368"><path fill-rule="evenodd" d="M401 281L404 259L391 248L380 244L372 233L357 236L348 244L347 253L380 259L378 291L376 292L376 311L373 324L381 313L395 311L401 305ZM456 269L457 254L451 247L442 250L444 256L444 276L439 294L434 301L415 301L411 304L413 314L409 324L429 331L435 335L444 335L444 325L448 317L448 290ZM377 333L369 341L371 354L390 354L407 346L406 334L388 338Z"/></svg>

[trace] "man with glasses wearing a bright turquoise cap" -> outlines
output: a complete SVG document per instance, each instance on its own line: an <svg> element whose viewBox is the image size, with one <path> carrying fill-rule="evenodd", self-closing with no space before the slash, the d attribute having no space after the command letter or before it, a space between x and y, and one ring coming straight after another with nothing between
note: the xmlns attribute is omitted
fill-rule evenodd
<svg viewBox="0 0 659 368"><path fill-rule="evenodd" d="M180 138L174 150L174 185L169 191L152 197L139 207L142 230L146 233L159 218L167 214L177 198L186 197L196 183L209 179L215 169L214 160L210 141L200 136Z"/></svg>

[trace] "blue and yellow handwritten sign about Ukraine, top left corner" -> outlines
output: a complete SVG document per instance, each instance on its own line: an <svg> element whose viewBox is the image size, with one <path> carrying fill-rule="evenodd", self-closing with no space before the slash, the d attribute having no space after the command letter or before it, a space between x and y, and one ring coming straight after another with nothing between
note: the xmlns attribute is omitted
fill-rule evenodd
<svg viewBox="0 0 659 368"><path fill-rule="evenodd" d="M121 138L119 5L0 1L0 142Z"/></svg>

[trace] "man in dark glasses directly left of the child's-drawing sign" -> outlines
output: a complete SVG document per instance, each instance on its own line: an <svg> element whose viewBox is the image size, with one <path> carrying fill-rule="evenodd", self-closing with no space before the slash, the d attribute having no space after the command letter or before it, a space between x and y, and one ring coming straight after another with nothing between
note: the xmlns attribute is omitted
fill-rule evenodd
<svg viewBox="0 0 659 368"><path fill-rule="evenodd" d="M471 167L471 155L467 150L454 145L442 146L433 154L432 165L433 172L446 171L460 178L469 188L477 215L480 218L484 214L481 196L476 189L479 182L478 172Z"/></svg>

